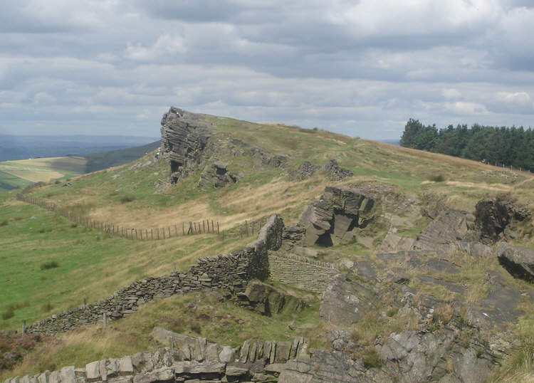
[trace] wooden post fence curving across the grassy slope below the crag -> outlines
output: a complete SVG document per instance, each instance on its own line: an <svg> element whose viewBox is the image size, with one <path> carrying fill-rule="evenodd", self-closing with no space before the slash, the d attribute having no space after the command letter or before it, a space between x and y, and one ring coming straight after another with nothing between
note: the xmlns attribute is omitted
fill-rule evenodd
<svg viewBox="0 0 534 383"><path fill-rule="evenodd" d="M188 223L174 224L172 226L157 227L150 229L130 228L107 222L96 221L85 216L78 216L72 210L63 208L56 204L51 204L44 199L33 196L26 196L24 194L16 194L16 199L39 206L48 211L53 211L56 214L64 216L76 224L87 226L90 229L96 229L115 236L124 238L137 239L140 241L152 241L158 239L169 239L177 236L197 235L197 234L221 234L221 229L218 221L213 219L205 219L202 221L189 221ZM224 233L224 232L223 232ZM224 237L224 234L223 234Z"/></svg>

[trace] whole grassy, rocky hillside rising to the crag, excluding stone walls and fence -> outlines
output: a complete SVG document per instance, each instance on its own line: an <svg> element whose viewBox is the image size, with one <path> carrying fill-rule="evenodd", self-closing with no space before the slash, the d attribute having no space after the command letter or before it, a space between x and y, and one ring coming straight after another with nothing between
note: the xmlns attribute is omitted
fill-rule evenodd
<svg viewBox="0 0 534 383"><path fill-rule="evenodd" d="M271 214L285 226L268 245L273 248L258 253L268 254L271 278L265 281L308 308L262 315L256 303L244 303L245 296L253 299L246 285L220 287L216 298L194 288L169 298L150 295L153 302L136 303L105 330L89 321L60 331L54 342L42 340L18 367L0 371L1 378L154 351L162 347L150 336L155 326L232 347L302 336L324 350L308 355L319 366L315 372L303 359L300 372L288 364L275 374L286 382L304 370L312 381L323 370L361 382L532 378L532 283L497 258L516 251L503 242L527 253L534 248L531 174L176 108L163 123L159 157L150 152L68 183L26 190L26 199L73 212L81 218L75 223L17 201L20 190L1 194L7 266L0 272L0 328L74 310L84 299L103 300L173 270L179 286L192 266L204 264L199 258L242 251L257 235L250 223ZM498 214L491 206L501 206ZM112 225L113 234L85 226L89 220ZM115 226L149 232L204 220L219 222L226 236L136 241L115 235ZM201 278L209 284L218 277L206 271ZM328 288L317 288L323 282ZM398 346L407 339L417 345L413 352ZM342 366L334 368L330 357Z"/></svg>

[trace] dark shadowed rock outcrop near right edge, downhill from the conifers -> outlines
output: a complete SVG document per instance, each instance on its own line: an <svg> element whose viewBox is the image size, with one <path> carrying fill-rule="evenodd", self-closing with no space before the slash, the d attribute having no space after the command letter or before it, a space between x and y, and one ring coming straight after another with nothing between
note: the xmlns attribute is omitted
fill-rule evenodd
<svg viewBox="0 0 534 383"><path fill-rule="evenodd" d="M496 243L503 238L506 227L513 221L523 221L530 212L505 197L486 198L476 204L476 224L484 243Z"/></svg>

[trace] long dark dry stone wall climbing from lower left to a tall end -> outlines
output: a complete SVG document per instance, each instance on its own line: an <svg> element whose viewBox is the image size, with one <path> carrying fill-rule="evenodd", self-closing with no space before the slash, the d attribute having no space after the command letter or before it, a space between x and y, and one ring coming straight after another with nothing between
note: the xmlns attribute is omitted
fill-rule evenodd
<svg viewBox="0 0 534 383"><path fill-rule="evenodd" d="M33 323L26 330L55 335L77 325L103 320L104 313L114 320L135 313L140 305L150 300L205 288L221 288L229 293L242 292L249 280L268 277L267 251L280 247L282 231L282 219L273 215L262 227L258 239L239 251L201 258L184 273L138 280L104 300L52 315Z"/></svg>

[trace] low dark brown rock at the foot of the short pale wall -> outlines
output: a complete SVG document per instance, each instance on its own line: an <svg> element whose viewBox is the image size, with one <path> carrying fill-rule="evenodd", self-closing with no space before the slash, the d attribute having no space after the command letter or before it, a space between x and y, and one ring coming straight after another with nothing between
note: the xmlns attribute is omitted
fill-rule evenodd
<svg viewBox="0 0 534 383"><path fill-rule="evenodd" d="M238 293L241 303L262 315L299 313L305 308L303 300L259 280L252 280L244 293Z"/></svg>

